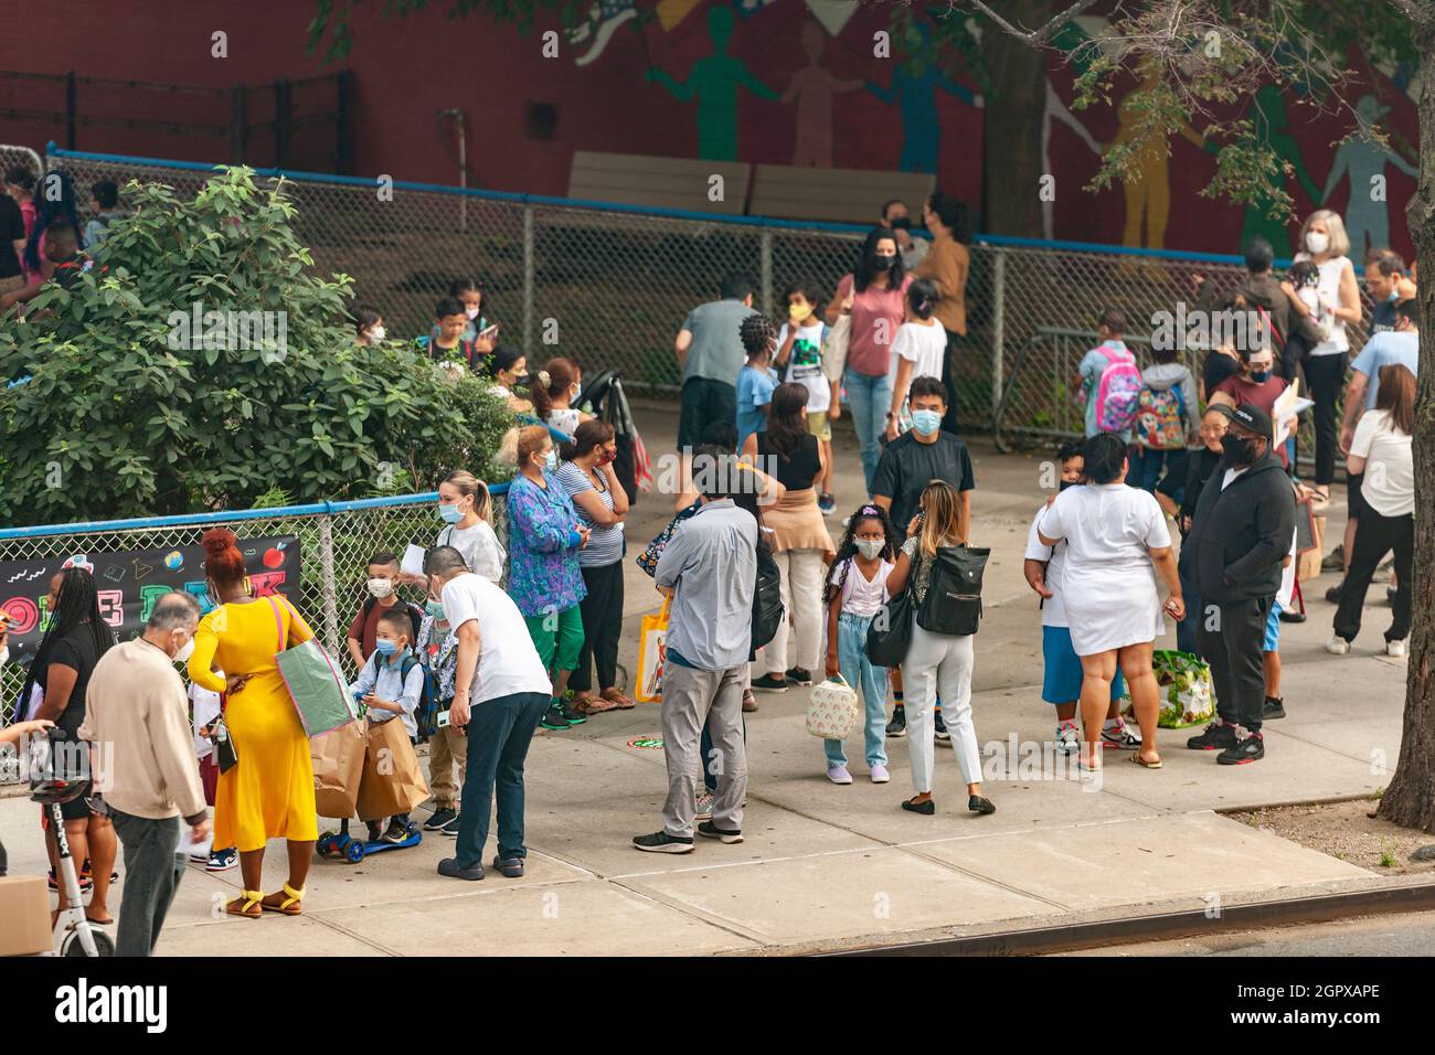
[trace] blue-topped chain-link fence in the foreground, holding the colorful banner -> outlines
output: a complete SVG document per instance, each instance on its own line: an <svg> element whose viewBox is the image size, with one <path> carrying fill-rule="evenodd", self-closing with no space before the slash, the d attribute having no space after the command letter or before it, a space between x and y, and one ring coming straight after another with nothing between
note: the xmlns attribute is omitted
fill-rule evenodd
<svg viewBox="0 0 1435 1055"><path fill-rule="evenodd" d="M507 485L494 485L494 531L507 548ZM44 528L6 528L0 531L0 563L43 561L53 558L59 571L65 558L103 553L154 554L158 566L172 550L199 545L211 527L228 527L241 540L297 535L300 587L296 607L336 660L350 676L357 672L344 646L347 629L367 591L369 557L390 551L402 557L409 543L433 545L442 524L433 514L436 494L370 498L357 502L329 502L280 510L247 510L198 517L164 517L154 521L113 521L72 530L67 525ZM32 594L44 596L49 578L32 584ZM400 586L400 596L418 604L422 587ZM24 682L17 663L0 667L0 725L13 718L14 703ZM0 781L14 766L0 764Z"/></svg>

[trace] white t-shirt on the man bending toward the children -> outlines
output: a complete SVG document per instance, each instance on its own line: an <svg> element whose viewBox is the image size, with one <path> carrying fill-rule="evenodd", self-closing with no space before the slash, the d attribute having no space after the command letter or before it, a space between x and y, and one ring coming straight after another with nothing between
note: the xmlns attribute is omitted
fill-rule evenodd
<svg viewBox="0 0 1435 1055"><path fill-rule="evenodd" d="M528 624L512 597L481 576L455 576L443 584L443 616L456 634L478 622L478 669L469 703L486 703L515 692L552 692L552 682L528 636Z"/></svg>

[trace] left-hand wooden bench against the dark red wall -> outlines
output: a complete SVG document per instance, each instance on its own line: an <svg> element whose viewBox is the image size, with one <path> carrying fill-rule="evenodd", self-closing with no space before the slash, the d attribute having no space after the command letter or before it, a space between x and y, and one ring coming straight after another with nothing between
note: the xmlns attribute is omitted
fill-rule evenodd
<svg viewBox="0 0 1435 1055"><path fill-rule="evenodd" d="M707 198L709 179L713 175L723 178L722 201ZM752 165L745 161L693 161L651 158L641 154L574 151L568 197L740 217L748 201L751 178Z"/></svg>

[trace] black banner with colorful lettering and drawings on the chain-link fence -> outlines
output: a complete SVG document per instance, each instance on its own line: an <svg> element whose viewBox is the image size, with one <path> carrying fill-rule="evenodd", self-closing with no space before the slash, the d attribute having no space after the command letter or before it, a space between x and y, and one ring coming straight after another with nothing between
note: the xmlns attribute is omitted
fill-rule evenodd
<svg viewBox="0 0 1435 1055"><path fill-rule="evenodd" d="M298 535L240 538L254 596L278 593L298 601ZM100 616L119 640L139 633L155 601L171 590L188 590L204 611L214 607L205 587L204 547L76 553L43 560L0 561L0 610L10 624L10 656L29 663L49 624L50 578L65 567L86 567L95 576Z"/></svg>

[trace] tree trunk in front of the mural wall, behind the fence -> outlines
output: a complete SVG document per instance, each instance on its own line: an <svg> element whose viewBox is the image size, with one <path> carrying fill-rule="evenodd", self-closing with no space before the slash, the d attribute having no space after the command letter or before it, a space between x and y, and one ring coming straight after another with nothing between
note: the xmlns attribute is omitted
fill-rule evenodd
<svg viewBox="0 0 1435 1055"><path fill-rule="evenodd" d="M1056 11L1052 0L1007 0L1002 17L1019 26L1042 26ZM1045 50L1029 47L987 26L982 37L992 98L983 135L983 231L1042 237L1038 198L1042 165L1042 123L1046 121ZM1078 188L1062 188L1079 192Z"/></svg>

